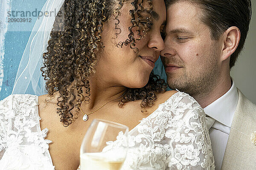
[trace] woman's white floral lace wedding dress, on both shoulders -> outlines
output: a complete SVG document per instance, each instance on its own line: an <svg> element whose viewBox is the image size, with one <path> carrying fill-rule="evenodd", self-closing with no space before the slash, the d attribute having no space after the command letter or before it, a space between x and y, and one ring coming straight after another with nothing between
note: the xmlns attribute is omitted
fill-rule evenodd
<svg viewBox="0 0 256 170"><path fill-rule="evenodd" d="M0 170L54 170L48 129L41 130L38 96L0 101ZM122 170L214 170L205 113L177 92L129 132Z"/></svg>

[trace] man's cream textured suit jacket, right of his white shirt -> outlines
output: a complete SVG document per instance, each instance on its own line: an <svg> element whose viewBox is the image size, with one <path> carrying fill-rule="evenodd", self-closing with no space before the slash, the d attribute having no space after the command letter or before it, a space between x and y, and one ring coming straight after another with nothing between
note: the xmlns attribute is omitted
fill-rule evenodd
<svg viewBox="0 0 256 170"><path fill-rule="evenodd" d="M238 103L221 170L256 170L256 146L250 134L256 130L256 105L238 90Z"/></svg>

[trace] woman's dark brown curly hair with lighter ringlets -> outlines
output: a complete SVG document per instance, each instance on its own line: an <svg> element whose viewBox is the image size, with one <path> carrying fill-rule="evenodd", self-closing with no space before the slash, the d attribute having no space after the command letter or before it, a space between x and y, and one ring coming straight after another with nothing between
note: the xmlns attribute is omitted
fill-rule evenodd
<svg viewBox="0 0 256 170"><path fill-rule="evenodd" d="M95 73L96 54L104 48L101 42L103 23L113 15L117 37L122 31L118 25L124 3L133 6L130 10L130 33L127 40L115 42L115 45L119 48L130 45L137 53L135 43L145 36L152 25L152 0L65 0L55 17L47 52L43 54L44 66L41 71L47 80L49 96L53 97L56 91L59 92L57 113L65 127L77 119L81 102L90 101L88 78ZM143 7L143 3L147 3L147 8ZM137 28L138 38L134 38L134 27ZM82 91L82 87L86 90ZM166 88L165 81L152 71L147 85L143 88L128 88L118 107L121 108L128 101L142 99L140 105L143 111L154 105L157 99L155 93L162 93ZM73 115L71 110L75 107L76 115Z"/></svg>

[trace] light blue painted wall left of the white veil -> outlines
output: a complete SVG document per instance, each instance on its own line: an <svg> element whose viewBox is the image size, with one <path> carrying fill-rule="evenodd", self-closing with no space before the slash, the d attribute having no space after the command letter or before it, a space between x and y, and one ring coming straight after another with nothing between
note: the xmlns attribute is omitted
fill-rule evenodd
<svg viewBox="0 0 256 170"><path fill-rule="evenodd" d="M30 33L32 31L32 28L35 24L35 21L37 20L37 16L32 16L33 14L38 14L38 11L41 11L41 8L44 6L44 3L46 0L8 0L8 6L6 6L6 10L1 10L2 14L1 16L6 15L7 11L15 11L13 14L10 14L5 19L5 22L3 23L8 24L7 26L7 32L5 34L3 43L3 84L1 86L0 91L0 100L4 99L5 97L9 96L12 93L12 88L14 85L15 77L17 74L17 69L20 63L20 59L22 57L23 51L26 47L26 43L29 40ZM7 0L0 0L1 4L6 3ZM24 11L26 14L26 11L30 11L31 15L29 16L29 13L27 12L27 16L21 17L20 12L18 13L18 16L16 16L16 11ZM5 13L3 13L5 12ZM8 22L8 17L12 20L14 18L25 18L29 19L31 18L31 22ZM30 19L29 19L30 20ZM10 20L11 21L11 20ZM3 45L3 44L2 44Z"/></svg>

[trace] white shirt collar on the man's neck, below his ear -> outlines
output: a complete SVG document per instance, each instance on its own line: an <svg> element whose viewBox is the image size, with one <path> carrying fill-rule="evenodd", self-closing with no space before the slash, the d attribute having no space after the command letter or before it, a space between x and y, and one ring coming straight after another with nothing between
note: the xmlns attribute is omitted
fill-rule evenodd
<svg viewBox="0 0 256 170"><path fill-rule="evenodd" d="M227 127L231 127L238 102L238 91L235 82L223 96L204 108L205 113Z"/></svg>

